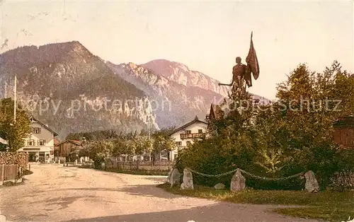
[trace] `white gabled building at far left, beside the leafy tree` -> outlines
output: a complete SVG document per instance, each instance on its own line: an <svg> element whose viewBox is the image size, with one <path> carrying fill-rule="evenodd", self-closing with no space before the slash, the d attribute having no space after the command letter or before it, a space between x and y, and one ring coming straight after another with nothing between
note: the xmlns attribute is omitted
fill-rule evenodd
<svg viewBox="0 0 354 222"><path fill-rule="evenodd" d="M30 162L42 161L49 163L54 160L54 137L58 134L35 117L30 117L32 132L25 140L25 146L18 152L29 154Z"/></svg>

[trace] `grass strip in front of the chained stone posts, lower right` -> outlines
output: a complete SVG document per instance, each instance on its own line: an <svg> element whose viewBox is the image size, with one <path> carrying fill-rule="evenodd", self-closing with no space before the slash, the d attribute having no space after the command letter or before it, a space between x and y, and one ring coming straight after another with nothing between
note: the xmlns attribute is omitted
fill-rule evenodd
<svg viewBox="0 0 354 222"><path fill-rule="evenodd" d="M229 192L226 189L218 190L198 185L195 185L193 190L181 190L178 187L170 188L167 183L157 187L173 194L217 201L230 201L232 203L300 206L272 210L278 214L300 218L348 221L349 217L354 217L354 192L350 191L323 191L312 194L304 191L245 189L241 192Z"/></svg>

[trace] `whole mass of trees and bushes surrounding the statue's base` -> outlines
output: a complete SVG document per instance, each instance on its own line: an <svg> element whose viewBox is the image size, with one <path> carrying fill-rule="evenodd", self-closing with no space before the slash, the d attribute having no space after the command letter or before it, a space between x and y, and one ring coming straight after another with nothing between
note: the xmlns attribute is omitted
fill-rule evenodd
<svg viewBox="0 0 354 222"><path fill-rule="evenodd" d="M333 143L333 123L337 117L353 114L353 79L353 74L341 71L338 62L323 73L299 64L287 81L278 85L278 100L263 106L252 100L246 90L234 88L222 104L230 107L219 114L224 118L210 121L212 137L185 148L178 155L178 169L188 167L219 174L242 168L266 177L313 170L320 185L326 187L338 170L336 156L341 156ZM342 101L338 107L341 111L333 111L335 100ZM276 185L259 181L265 186L251 178L246 181L253 187L299 188L293 185L294 181ZM215 185L217 181L196 175L195 182Z"/></svg>

